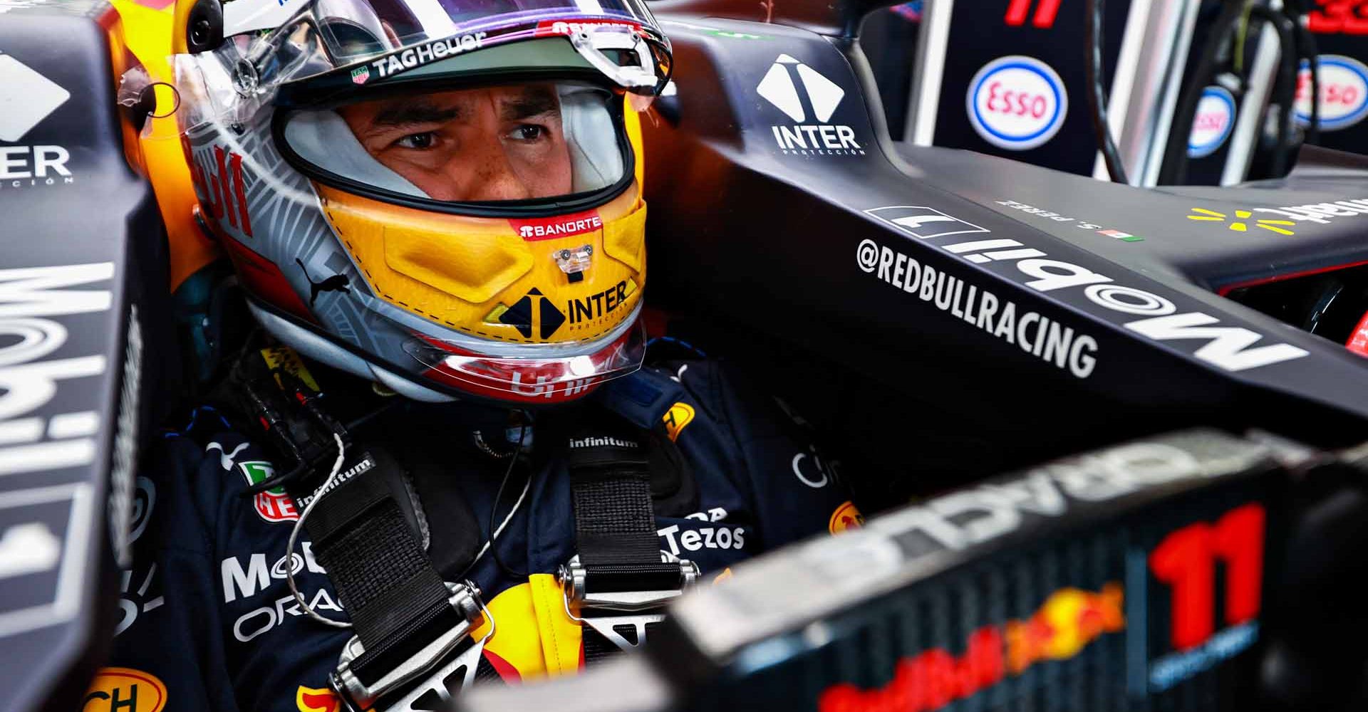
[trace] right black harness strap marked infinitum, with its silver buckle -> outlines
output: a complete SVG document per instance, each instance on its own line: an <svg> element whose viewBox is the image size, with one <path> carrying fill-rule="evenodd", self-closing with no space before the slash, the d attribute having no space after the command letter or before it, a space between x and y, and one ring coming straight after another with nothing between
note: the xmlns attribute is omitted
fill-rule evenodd
<svg viewBox="0 0 1368 712"><path fill-rule="evenodd" d="M614 430L569 437L579 555L561 567L565 610L584 623L584 659L640 645L659 610L698 578L687 559L662 562L647 448ZM575 610L579 610L576 615Z"/></svg>

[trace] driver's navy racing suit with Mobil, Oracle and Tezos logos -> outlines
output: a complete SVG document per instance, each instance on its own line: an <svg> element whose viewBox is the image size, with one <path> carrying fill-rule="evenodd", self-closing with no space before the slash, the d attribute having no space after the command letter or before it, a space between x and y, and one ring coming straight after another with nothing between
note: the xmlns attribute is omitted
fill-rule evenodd
<svg viewBox="0 0 1368 712"><path fill-rule="evenodd" d="M670 364L610 381L580 406L677 447L677 471L659 485L653 474L657 534L662 556L699 566L702 585L758 552L859 521L802 429L736 380L720 362ZM536 414L524 430L508 426L506 411L398 405L358 441L367 437L402 467L442 577L464 574L482 589L498 622L482 675L517 681L579 670L579 625L566 616L554 579L575 555L568 467L560 443L546 435L554 411ZM124 671L119 679L144 681L133 693L160 694L172 709L334 712L338 700L326 689L327 676L350 631L304 615L286 584L290 567L315 611L346 619L306 532L286 555L305 502L280 492L246 495L250 482L272 471L271 455L227 425L218 411L201 409L145 459L138 489L146 507L134 564L123 575L109 664ZM498 450L516 447L509 443L520 436L531 455L521 458L491 517L508 467ZM356 459L361 450L349 448L339 477L365 476L371 465ZM495 560L479 547L505 518ZM101 700L119 694L127 698L130 690Z"/></svg>

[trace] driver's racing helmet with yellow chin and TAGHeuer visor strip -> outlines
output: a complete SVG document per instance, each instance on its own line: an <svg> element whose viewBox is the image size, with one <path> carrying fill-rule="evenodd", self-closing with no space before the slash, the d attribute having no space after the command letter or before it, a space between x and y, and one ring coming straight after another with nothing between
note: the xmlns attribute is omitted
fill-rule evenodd
<svg viewBox="0 0 1368 712"><path fill-rule="evenodd" d="M637 112L670 70L642 0L176 18L198 217L278 339L420 400L557 403L640 368Z"/></svg>

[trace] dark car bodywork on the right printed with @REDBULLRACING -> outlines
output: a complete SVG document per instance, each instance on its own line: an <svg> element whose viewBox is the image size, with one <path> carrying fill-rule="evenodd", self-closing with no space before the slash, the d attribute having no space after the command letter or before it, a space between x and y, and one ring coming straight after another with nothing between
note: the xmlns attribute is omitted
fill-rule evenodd
<svg viewBox="0 0 1368 712"><path fill-rule="evenodd" d="M885 465L963 481L1192 424L1363 437L1358 357L1218 294L1368 260L1368 208L1334 204L1368 197L1353 160L1141 190L893 145L851 40L658 12L677 94L646 122L651 260L666 265L651 298L729 324L729 346L774 339L757 351L778 364L773 387L910 451ZM832 364L860 376L819 372Z"/></svg>

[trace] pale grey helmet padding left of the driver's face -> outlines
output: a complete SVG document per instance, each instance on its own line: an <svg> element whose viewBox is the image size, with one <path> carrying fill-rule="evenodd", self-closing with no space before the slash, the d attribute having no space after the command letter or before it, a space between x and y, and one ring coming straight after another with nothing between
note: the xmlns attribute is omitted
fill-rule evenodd
<svg viewBox="0 0 1368 712"><path fill-rule="evenodd" d="M301 159L330 174L393 193L430 197L402 175L375 160L335 111L302 111L290 116L285 124L285 139Z"/></svg>

